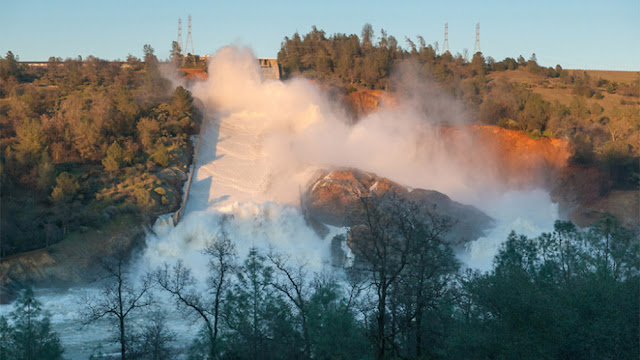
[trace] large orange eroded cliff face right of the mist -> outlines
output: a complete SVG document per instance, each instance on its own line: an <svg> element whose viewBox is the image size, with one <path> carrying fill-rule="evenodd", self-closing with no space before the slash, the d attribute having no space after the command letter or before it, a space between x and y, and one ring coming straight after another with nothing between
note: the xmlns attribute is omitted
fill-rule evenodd
<svg viewBox="0 0 640 360"><path fill-rule="evenodd" d="M462 136L459 128L448 133L450 141ZM520 131L486 125L471 126L470 134L492 155L486 166L495 169L500 181L508 187L548 189L563 219L587 227L608 212L624 226L640 228L640 191L612 191L601 170L571 165L567 141L534 140Z"/></svg>

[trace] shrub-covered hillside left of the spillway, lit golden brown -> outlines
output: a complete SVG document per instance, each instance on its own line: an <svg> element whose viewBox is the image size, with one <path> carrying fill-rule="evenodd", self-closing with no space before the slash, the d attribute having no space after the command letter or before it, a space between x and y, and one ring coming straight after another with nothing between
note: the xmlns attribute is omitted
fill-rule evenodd
<svg viewBox="0 0 640 360"><path fill-rule="evenodd" d="M0 58L0 256L177 208L198 126L191 94L144 62ZM170 168L163 172L166 168ZM169 171L171 170L171 171Z"/></svg>

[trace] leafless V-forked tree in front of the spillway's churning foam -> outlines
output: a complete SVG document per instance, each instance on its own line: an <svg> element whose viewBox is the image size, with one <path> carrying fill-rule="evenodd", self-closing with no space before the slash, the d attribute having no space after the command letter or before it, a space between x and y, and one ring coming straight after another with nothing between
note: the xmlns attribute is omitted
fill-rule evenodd
<svg viewBox="0 0 640 360"><path fill-rule="evenodd" d="M207 335L210 358L218 352L219 324L222 314L222 303L230 284L230 277L235 272L237 255L235 245L226 232L222 232L205 247L204 254L209 256L210 276L207 279L206 291L198 289L197 280L191 271L178 262L173 267L165 264L156 272L156 281L176 300L176 303L202 319ZM211 293L211 298L206 294Z"/></svg>

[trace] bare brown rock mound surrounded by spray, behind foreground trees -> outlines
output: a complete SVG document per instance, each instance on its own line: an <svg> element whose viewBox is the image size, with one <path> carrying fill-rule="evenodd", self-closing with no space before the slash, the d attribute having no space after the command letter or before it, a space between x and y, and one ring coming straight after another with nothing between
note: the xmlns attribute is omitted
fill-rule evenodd
<svg viewBox="0 0 640 360"><path fill-rule="evenodd" d="M362 221L362 199L395 195L416 206L420 217L430 214L450 218L451 231L445 240L461 245L483 235L492 219L473 206L451 200L433 190L409 190L387 178L356 169L323 171L303 194L303 209L313 222L332 226L355 226ZM317 226L314 226L316 228Z"/></svg>

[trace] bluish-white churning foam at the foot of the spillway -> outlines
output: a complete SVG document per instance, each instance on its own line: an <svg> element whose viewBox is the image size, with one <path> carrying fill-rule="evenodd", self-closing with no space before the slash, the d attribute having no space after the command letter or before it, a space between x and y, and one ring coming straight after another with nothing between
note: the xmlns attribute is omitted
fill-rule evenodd
<svg viewBox="0 0 640 360"><path fill-rule="evenodd" d="M344 229L334 228L321 239L294 206L275 202L234 203L221 209L188 213L169 232L149 235L143 268L183 260L197 276L204 278L208 260L201 251L222 231L234 241L240 258L256 247L263 254L271 250L291 254L296 261L319 270L330 258L331 239Z"/></svg>

